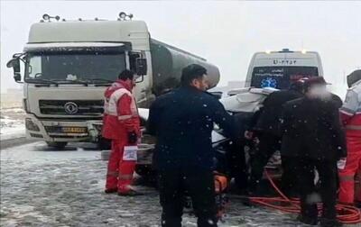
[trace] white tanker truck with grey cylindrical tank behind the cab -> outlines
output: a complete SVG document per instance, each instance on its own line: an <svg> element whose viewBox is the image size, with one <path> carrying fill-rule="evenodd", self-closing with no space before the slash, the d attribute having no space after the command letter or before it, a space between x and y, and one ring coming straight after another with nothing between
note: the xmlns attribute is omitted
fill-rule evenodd
<svg viewBox="0 0 361 227"><path fill-rule="evenodd" d="M26 135L64 147L70 141L90 141L99 132L106 86L125 68L138 77L134 89L139 107L179 86L181 68L197 63L208 69L210 86L218 68L206 59L151 38L143 21L119 14L117 21L66 21L44 14L32 24L23 53L7 67L23 83ZM24 70L21 72L21 65ZM23 74L23 75L22 75Z"/></svg>

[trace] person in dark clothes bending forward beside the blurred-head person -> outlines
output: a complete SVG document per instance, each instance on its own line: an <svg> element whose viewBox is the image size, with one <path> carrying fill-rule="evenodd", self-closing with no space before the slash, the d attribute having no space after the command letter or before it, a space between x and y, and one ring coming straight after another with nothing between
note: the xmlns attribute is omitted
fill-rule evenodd
<svg viewBox="0 0 361 227"><path fill-rule="evenodd" d="M288 90L275 91L263 103L263 108L258 113L253 128L258 144L251 154L251 174L249 177L248 191L250 194L257 192L259 180L264 173L264 167L276 150L281 150L280 118L282 104L300 98L303 95L303 80L292 83ZM287 168L286 159L282 159L283 175L282 189L287 193L292 188L292 171ZM287 169L285 169L287 168Z"/></svg>

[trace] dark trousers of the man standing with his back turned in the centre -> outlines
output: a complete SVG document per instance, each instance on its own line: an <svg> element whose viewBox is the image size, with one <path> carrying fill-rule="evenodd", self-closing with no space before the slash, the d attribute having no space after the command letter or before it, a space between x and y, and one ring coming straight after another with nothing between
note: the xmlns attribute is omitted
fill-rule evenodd
<svg viewBox="0 0 361 227"><path fill-rule="evenodd" d="M159 171L162 226L180 227L184 195L190 195L199 227L217 226L213 171L197 168L171 168Z"/></svg>

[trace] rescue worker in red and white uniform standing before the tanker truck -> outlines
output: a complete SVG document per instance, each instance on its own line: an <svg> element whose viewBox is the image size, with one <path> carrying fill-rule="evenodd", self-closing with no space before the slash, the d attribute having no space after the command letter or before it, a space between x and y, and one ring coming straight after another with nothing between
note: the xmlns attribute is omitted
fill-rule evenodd
<svg viewBox="0 0 361 227"><path fill-rule="evenodd" d="M134 72L124 70L106 88L102 135L112 141L106 174L106 193L139 195L132 188L140 120L132 89Z"/></svg>

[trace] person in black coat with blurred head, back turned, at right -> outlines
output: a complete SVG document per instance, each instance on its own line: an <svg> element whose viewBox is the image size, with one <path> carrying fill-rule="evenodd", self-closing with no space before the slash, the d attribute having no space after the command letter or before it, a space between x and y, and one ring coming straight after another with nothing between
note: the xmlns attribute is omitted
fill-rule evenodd
<svg viewBox="0 0 361 227"><path fill-rule="evenodd" d="M317 202L323 202L321 226L341 226L336 218L337 162L346 157L338 104L323 77L305 81L306 95L283 105L282 156L290 157L301 195L301 222L317 225ZM319 194L314 169L319 172Z"/></svg>

